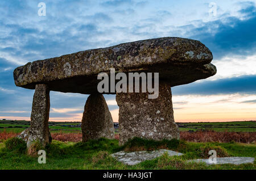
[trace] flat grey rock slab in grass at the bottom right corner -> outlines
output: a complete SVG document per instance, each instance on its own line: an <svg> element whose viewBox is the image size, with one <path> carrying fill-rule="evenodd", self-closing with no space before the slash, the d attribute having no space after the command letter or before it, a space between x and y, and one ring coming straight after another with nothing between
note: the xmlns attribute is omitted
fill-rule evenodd
<svg viewBox="0 0 256 181"><path fill-rule="evenodd" d="M254 163L253 157L222 157L222 158L216 158L217 163L216 164L235 164L240 165L243 163ZM204 162L207 163L207 165L212 165L214 163L209 163L209 159L193 159L189 162Z"/></svg>

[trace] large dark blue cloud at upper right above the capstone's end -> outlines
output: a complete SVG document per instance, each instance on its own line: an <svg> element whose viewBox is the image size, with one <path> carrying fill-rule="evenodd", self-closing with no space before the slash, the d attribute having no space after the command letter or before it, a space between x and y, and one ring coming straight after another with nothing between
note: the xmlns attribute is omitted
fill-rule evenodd
<svg viewBox="0 0 256 181"><path fill-rule="evenodd" d="M201 22L203 25L199 27L191 24L187 26L187 31L192 32L189 37L207 45L217 59L230 54L255 54L256 33L253 30L256 30L256 6L253 2L241 4L245 7L240 12L246 18L228 16L207 23Z"/></svg>

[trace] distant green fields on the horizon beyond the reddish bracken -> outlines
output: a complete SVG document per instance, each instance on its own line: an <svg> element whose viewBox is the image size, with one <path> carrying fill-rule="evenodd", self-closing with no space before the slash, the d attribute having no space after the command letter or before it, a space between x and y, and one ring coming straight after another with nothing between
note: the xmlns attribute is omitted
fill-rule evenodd
<svg viewBox="0 0 256 181"><path fill-rule="evenodd" d="M80 122L49 122L51 133L79 133ZM256 121L234 121L214 123L177 123L181 132L215 131L215 132L256 132ZM30 121L0 120L0 132L22 132L30 127ZM118 130L116 129L116 133Z"/></svg>

